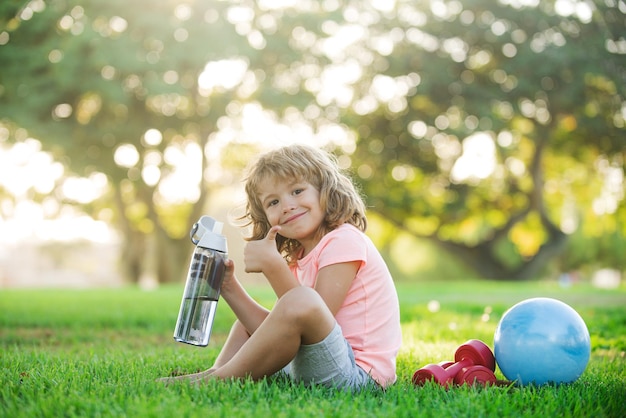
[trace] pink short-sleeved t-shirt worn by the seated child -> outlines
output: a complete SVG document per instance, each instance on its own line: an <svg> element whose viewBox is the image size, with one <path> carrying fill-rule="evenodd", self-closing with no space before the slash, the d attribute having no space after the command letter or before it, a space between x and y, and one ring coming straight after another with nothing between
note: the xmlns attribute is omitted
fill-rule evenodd
<svg viewBox="0 0 626 418"><path fill-rule="evenodd" d="M315 287L322 267L352 261L361 261L361 266L335 318L356 363L384 387L397 378L400 307L391 274L369 237L344 224L326 234L291 269L301 285Z"/></svg>

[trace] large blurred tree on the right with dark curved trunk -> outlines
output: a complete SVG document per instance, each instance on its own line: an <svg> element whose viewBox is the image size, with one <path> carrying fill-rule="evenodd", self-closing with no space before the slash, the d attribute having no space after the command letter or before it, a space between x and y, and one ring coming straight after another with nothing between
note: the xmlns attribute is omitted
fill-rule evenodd
<svg viewBox="0 0 626 418"><path fill-rule="evenodd" d="M342 57L370 60L342 120L372 210L494 279L537 277L579 224L626 233L626 3L354 13L375 23Z"/></svg>

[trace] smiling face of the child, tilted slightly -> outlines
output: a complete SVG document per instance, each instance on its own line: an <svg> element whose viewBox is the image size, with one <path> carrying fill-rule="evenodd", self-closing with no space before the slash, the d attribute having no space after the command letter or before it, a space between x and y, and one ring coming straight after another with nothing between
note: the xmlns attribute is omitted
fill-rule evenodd
<svg viewBox="0 0 626 418"><path fill-rule="evenodd" d="M316 233L325 214L315 186L304 181L266 179L260 183L259 197L270 225L280 225L280 235L299 241L306 252L317 244Z"/></svg>

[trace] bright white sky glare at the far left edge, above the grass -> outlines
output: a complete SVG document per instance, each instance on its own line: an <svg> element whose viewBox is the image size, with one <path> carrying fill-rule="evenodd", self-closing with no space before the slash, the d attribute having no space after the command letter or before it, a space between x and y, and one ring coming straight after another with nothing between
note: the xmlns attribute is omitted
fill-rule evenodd
<svg viewBox="0 0 626 418"><path fill-rule="evenodd" d="M105 222L59 200L90 203L107 189L107 177L96 172L87 178L64 178L63 165L41 148L41 142L33 138L11 146L0 144L0 188L10 196L2 200L0 208L0 243L13 246L42 240L111 242L114 232ZM57 185L60 187L55 195ZM47 196L39 203L31 200L33 192Z"/></svg>

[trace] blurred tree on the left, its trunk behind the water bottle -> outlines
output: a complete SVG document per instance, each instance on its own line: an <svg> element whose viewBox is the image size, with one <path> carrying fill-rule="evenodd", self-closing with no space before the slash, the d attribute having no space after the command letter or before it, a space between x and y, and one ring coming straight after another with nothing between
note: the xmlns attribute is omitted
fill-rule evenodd
<svg viewBox="0 0 626 418"><path fill-rule="evenodd" d="M206 66L246 49L222 19L228 6L119 0L0 6L6 28L0 117L41 138L71 172L106 174L105 198L116 208L131 281L146 273L161 281L181 277L188 246L180 242L203 211L210 179L220 181L219 167L208 166L208 141L241 81L224 85L224 76L244 72L215 74ZM191 184L170 182L168 193L177 171L186 171ZM101 208L92 207L96 218Z"/></svg>

